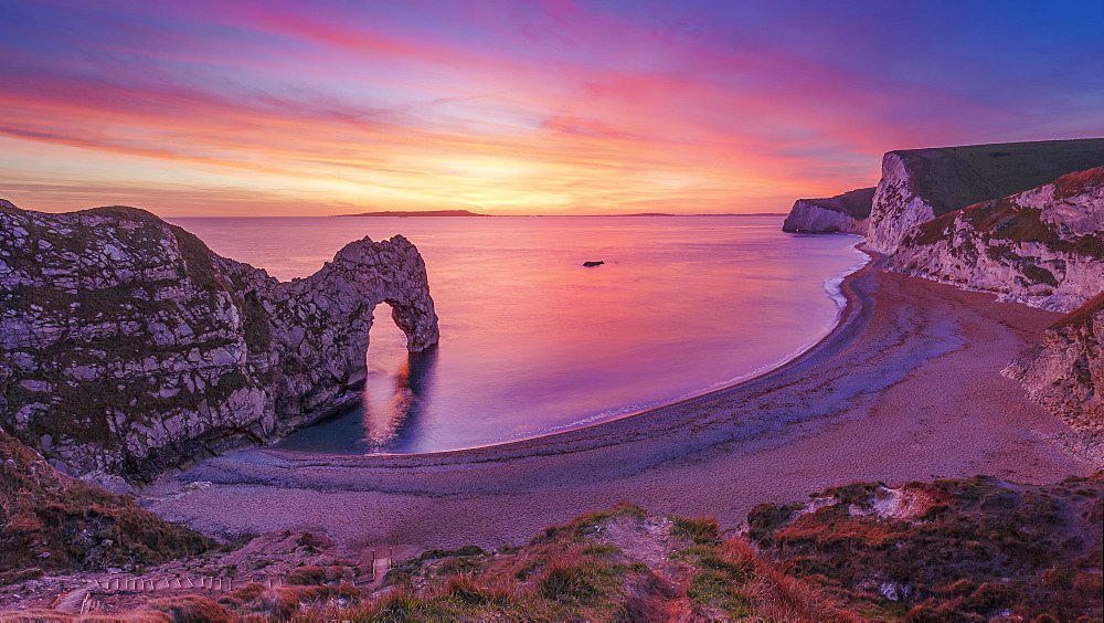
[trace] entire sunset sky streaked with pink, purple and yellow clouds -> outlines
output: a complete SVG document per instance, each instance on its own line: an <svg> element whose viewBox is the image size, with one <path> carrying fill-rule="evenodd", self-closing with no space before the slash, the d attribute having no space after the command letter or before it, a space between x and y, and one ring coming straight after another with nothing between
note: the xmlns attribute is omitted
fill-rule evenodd
<svg viewBox="0 0 1104 623"><path fill-rule="evenodd" d="M1104 2L0 0L0 198L162 217L785 212L1104 136Z"/></svg>

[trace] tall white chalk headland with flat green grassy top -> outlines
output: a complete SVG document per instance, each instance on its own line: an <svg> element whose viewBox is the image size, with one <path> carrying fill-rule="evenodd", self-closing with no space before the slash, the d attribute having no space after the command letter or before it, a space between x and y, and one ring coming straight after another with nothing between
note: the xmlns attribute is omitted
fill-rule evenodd
<svg viewBox="0 0 1104 623"><path fill-rule="evenodd" d="M910 230L935 217L1100 166L1100 138L890 151L882 158L867 244L893 253Z"/></svg>

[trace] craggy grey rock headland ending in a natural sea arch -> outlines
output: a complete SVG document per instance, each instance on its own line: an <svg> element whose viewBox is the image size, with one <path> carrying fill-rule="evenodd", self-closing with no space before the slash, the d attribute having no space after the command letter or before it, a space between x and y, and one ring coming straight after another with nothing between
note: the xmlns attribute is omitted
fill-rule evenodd
<svg viewBox="0 0 1104 623"><path fill-rule="evenodd" d="M437 341L402 236L282 283L132 208L0 204L0 423L63 471L149 478L353 399L373 310Z"/></svg>

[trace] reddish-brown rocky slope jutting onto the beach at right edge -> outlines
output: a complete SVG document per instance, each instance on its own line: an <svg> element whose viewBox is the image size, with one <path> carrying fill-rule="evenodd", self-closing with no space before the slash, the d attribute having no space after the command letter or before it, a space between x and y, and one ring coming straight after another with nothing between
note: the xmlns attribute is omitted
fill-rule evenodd
<svg viewBox="0 0 1104 623"><path fill-rule="evenodd" d="M1104 433L1104 293L1047 329L1004 373L1076 430Z"/></svg>

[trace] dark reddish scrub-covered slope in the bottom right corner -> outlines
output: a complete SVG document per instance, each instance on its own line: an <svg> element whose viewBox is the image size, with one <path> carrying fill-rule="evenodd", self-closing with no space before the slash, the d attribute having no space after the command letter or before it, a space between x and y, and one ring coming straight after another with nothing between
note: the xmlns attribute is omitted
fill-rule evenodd
<svg viewBox="0 0 1104 623"><path fill-rule="evenodd" d="M1053 485L977 476L857 483L762 504L747 536L874 621L1101 616L1104 472Z"/></svg>

